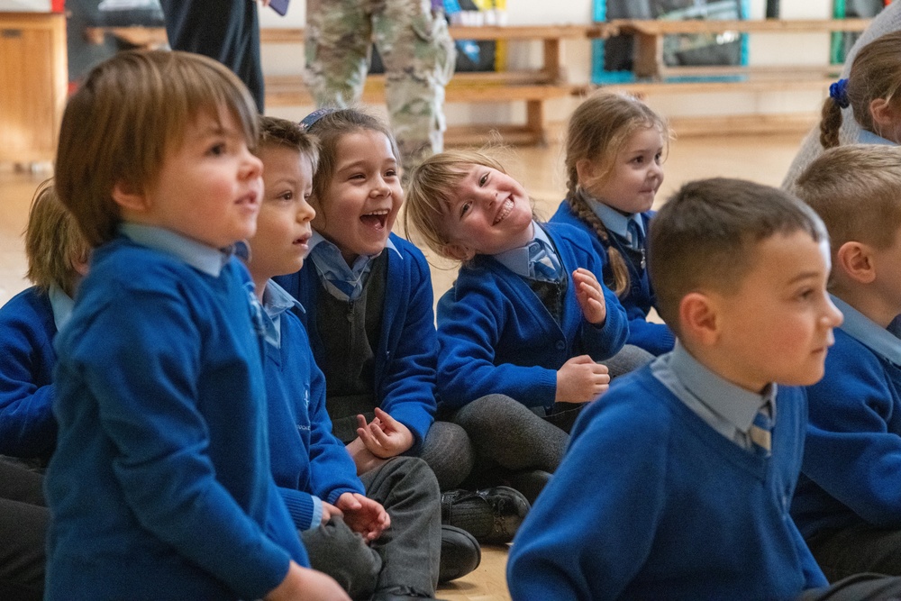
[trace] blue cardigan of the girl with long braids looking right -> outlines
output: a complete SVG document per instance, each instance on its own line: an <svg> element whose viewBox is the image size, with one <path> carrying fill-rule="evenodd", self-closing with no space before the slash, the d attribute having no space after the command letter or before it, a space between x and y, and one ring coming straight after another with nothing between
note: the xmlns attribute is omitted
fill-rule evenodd
<svg viewBox="0 0 901 601"><path fill-rule="evenodd" d="M642 223L644 231L648 232L651 217L654 212L648 211L642 213ZM613 271L610 269L610 262L607 260L607 249L611 244L619 244L615 240L614 235L609 236L606 245L601 241L594 229L587 223L579 219L567 201L560 203L557 213L551 217L551 223L569 223L575 225L580 230L587 232L592 239L597 241L598 252L604 260L604 281L611 285L614 281ZM647 238L645 238L647 244ZM669 326L663 323L653 323L648 321L648 312L651 307L657 305L657 296L654 294L654 288L651 286L651 280L648 278L648 270L641 269L641 266L633 264L629 260L629 255L622 249L620 254L623 255L626 267L629 269L629 290L626 295L620 298L623 303L625 313L629 318L629 344L641 347L654 355L660 355L664 352L672 351L676 344L676 337L669 329ZM645 252L647 252L645 248Z"/></svg>

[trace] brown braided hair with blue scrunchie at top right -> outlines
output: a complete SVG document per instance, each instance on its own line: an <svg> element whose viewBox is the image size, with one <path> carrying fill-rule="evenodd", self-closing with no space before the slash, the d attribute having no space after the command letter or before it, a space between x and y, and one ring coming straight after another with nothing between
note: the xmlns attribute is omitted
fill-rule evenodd
<svg viewBox="0 0 901 601"><path fill-rule="evenodd" d="M898 88L901 88L901 32L891 32L869 42L854 57L844 95L860 127L878 134L869 105L877 98L895 103ZM820 120L820 144L823 148L839 145L839 129L842 127L840 102L843 99L830 96L823 103Z"/></svg>

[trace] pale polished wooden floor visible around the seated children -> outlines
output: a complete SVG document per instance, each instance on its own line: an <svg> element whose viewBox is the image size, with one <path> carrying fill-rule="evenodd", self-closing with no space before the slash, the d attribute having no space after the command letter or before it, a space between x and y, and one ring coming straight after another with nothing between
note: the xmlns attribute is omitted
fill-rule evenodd
<svg viewBox="0 0 901 601"><path fill-rule="evenodd" d="M658 203L682 183L709 177L747 178L778 186L795 155L800 135L766 137L704 137L674 141L664 166L666 178ZM566 189L559 145L547 148L508 150L500 157L510 173L523 182L535 200L537 213L550 217ZM49 173L16 172L0 165L0 304L28 286L24 279L22 232L34 188ZM454 277L441 266L432 271L435 296L440 296ZM506 550L487 547L482 564L466 578L442 587L438 596L448 601L501 601L509 599L505 584Z"/></svg>

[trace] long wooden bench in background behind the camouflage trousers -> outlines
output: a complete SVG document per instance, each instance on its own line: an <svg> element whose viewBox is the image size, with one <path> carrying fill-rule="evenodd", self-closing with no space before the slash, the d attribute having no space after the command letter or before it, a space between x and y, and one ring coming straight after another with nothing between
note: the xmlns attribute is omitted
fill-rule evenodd
<svg viewBox="0 0 901 601"><path fill-rule="evenodd" d="M567 39L587 39L594 25L551 26L452 26L455 40L542 41L542 64L537 69L500 70L478 73L457 73L445 88L447 103L525 103L525 123L517 125L481 125L451 127L446 133L448 143L484 141L487 132L497 131L506 143L535 144L547 141L545 103L554 98L580 94L584 86L567 82L561 42ZM97 43L105 35L126 41L141 48L166 46L166 32L162 28L113 27L88 28L86 37ZM302 44L304 30L264 28L260 30L263 44ZM314 101L300 75L270 75L266 77L267 106L304 106ZM385 76L367 77L363 101L384 102Z"/></svg>

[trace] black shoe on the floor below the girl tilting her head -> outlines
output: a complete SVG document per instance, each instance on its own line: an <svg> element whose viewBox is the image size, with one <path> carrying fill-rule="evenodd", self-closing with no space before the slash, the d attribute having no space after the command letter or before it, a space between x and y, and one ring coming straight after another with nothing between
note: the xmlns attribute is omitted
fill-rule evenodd
<svg viewBox="0 0 901 601"><path fill-rule="evenodd" d="M484 544L504 544L513 541L531 508L511 487L451 490L441 495L441 524L461 528Z"/></svg>

